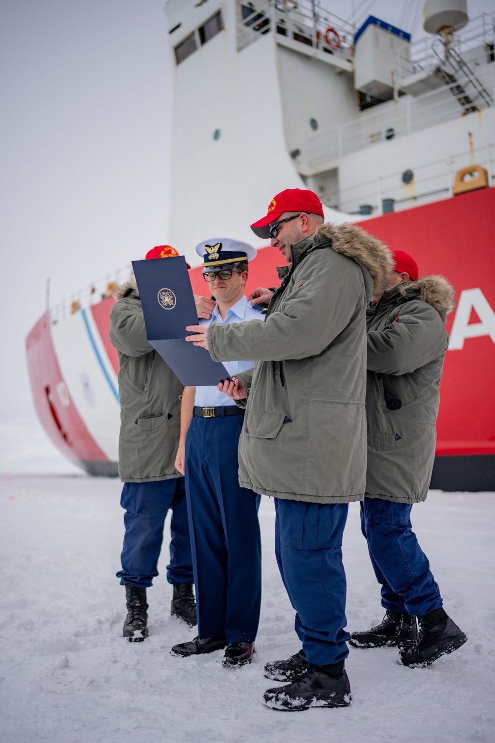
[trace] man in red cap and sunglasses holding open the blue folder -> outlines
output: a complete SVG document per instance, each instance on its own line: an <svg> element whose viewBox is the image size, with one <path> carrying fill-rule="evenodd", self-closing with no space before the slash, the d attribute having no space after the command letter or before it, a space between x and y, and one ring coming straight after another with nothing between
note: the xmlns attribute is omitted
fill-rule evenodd
<svg viewBox="0 0 495 743"><path fill-rule="evenodd" d="M302 642L292 658L266 664L268 678L292 683L266 691L265 703L343 707L350 636L341 543L366 479L366 308L392 262L358 227L324 224L310 191L276 195L252 230L289 263L265 322L191 326L187 340L214 360L256 361L219 389L246 405L239 481L275 498L275 552Z"/></svg>

